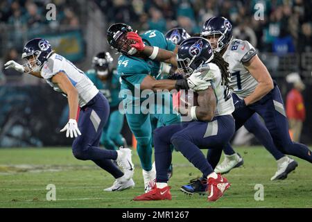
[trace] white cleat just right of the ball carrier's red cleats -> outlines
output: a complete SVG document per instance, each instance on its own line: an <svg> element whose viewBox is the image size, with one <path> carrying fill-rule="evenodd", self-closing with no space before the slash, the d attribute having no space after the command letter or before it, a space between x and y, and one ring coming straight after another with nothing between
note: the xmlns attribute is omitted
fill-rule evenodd
<svg viewBox="0 0 312 222"><path fill-rule="evenodd" d="M241 165L243 165L243 163L244 160L241 157L241 155L239 155L239 153L225 155L223 162L218 164L218 166L216 166L216 169L214 169L214 171L216 173L229 173L231 169L240 167Z"/></svg>

